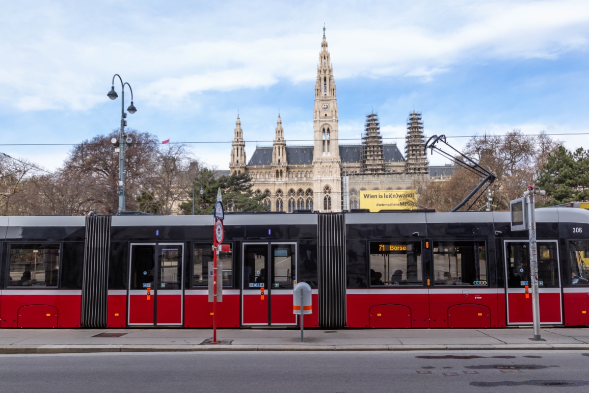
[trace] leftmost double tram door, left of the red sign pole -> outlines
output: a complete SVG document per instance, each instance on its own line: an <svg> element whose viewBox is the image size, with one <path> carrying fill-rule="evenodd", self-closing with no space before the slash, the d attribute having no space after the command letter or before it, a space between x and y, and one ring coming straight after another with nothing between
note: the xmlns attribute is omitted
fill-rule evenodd
<svg viewBox="0 0 589 393"><path fill-rule="evenodd" d="M131 245L128 325L182 325L183 245Z"/></svg>

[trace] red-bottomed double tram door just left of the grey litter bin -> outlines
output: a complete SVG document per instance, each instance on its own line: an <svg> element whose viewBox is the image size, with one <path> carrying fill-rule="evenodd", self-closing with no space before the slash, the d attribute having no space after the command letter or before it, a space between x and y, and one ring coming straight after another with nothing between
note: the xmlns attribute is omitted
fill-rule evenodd
<svg viewBox="0 0 589 393"><path fill-rule="evenodd" d="M242 272L242 325L296 325L296 243L244 244Z"/></svg>

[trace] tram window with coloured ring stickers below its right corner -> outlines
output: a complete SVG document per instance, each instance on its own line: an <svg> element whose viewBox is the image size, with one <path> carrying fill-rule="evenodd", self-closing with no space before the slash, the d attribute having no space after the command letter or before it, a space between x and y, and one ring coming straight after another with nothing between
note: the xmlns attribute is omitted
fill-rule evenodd
<svg viewBox="0 0 589 393"><path fill-rule="evenodd" d="M488 285L484 242L434 242L434 285Z"/></svg>

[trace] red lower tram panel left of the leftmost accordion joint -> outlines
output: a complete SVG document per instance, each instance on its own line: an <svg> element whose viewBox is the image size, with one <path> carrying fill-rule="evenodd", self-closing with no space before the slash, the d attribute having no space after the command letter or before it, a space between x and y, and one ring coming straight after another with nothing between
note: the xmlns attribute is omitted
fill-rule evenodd
<svg viewBox="0 0 589 393"><path fill-rule="evenodd" d="M1 328L79 328L81 290L2 290Z"/></svg>

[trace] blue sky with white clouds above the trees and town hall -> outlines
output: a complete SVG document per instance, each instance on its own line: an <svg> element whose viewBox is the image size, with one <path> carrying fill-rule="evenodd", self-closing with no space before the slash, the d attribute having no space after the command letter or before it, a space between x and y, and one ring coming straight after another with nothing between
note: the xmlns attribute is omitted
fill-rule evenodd
<svg viewBox="0 0 589 393"><path fill-rule="evenodd" d="M324 23L340 138L358 138L372 109L383 136L403 137L413 108L428 136L589 132L586 0L90 3L0 5L0 151L61 166L69 146L6 144L116 128L115 72L133 87L129 126L160 140L230 141L238 110L248 156L279 110L287 141L312 138ZM191 150L228 167L230 144Z"/></svg>

